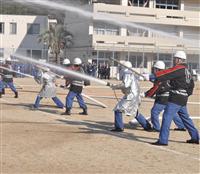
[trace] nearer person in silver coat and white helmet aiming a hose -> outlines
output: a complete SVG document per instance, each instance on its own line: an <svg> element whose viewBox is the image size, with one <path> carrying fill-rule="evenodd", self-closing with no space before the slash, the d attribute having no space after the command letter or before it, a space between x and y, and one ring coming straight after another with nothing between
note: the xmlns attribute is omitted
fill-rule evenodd
<svg viewBox="0 0 200 174"><path fill-rule="evenodd" d="M113 90L121 90L124 94L114 108L115 127L111 131L115 132L122 132L124 130L122 114L135 116L140 104L140 87L137 77L130 70L132 64L126 61L124 65L125 69L122 73L122 83L110 85Z"/></svg>

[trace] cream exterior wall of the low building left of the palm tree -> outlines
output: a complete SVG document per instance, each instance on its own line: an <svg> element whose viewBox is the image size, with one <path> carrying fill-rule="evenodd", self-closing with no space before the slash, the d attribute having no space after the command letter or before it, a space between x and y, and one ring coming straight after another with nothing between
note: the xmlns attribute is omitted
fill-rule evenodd
<svg viewBox="0 0 200 174"><path fill-rule="evenodd" d="M45 16L0 15L4 23L4 33L0 34L0 48L4 48L7 58L16 51L26 53L26 50L42 50L43 44L38 43L38 34L27 34L27 24L39 24L40 33L48 29L48 18ZM17 33L10 34L10 23L17 24Z"/></svg>

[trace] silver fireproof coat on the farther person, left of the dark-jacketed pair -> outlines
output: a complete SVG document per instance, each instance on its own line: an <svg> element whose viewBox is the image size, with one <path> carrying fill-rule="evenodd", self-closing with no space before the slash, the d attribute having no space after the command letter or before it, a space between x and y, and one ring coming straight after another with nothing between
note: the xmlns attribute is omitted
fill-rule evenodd
<svg viewBox="0 0 200 174"><path fill-rule="evenodd" d="M42 89L38 94L40 97L52 98L56 96L56 77L54 74L39 70L35 80L37 83L42 84Z"/></svg>

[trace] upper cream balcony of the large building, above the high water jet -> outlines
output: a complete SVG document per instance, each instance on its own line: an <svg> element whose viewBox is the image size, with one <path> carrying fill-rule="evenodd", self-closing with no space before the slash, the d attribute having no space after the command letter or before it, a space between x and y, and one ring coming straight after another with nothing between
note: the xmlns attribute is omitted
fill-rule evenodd
<svg viewBox="0 0 200 174"><path fill-rule="evenodd" d="M200 12L180 11L110 4L94 4L94 13L106 13L124 22L200 27ZM94 17L94 20L97 19Z"/></svg>

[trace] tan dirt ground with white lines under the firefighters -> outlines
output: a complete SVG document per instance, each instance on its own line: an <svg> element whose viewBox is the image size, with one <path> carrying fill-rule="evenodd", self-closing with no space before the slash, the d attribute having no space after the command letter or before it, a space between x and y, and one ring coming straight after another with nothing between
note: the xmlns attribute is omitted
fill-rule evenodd
<svg viewBox="0 0 200 174"><path fill-rule="evenodd" d="M131 127L130 117L124 117L125 131L113 133L113 111L117 100L111 89L98 84L86 87L84 94L108 107L102 108L89 100L88 116L74 102L71 116L55 107L51 99L43 99L37 111L31 111L40 89L32 79L15 79L19 98L6 89L0 99L1 172L9 174L65 173L65 174L145 174L200 173L199 145L186 144L188 132L174 131L172 124L168 146L157 147L158 133ZM113 82L113 81L112 81ZM141 82L142 90L151 84ZM67 90L58 89L64 102ZM120 92L116 93L121 96ZM200 117L200 84L189 99L189 113ZM152 100L145 99L140 112L150 116ZM200 129L199 119L194 123Z"/></svg>

